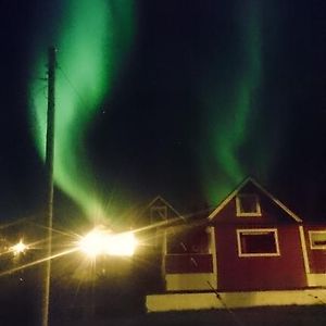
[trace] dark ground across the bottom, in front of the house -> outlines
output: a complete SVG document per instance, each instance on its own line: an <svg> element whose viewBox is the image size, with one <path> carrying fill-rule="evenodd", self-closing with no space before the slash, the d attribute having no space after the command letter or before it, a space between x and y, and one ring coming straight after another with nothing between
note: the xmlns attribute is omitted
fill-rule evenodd
<svg viewBox="0 0 326 326"><path fill-rule="evenodd" d="M33 272L33 273L32 273ZM0 278L0 325L36 326L39 317L36 271ZM68 274L70 275L70 274ZM314 306L269 306L233 310L145 312L141 281L108 277L95 284L52 283L50 326L324 326L326 302ZM133 280L133 281L131 281ZM148 278L145 278L145 281Z"/></svg>

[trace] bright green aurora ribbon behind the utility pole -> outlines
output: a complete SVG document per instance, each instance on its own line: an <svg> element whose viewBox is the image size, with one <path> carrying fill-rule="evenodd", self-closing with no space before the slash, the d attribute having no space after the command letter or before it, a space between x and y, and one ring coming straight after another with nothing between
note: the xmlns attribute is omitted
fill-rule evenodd
<svg viewBox="0 0 326 326"><path fill-rule="evenodd" d="M85 135L128 51L134 34L131 0L63 1L57 33L40 41L33 75L43 76L47 49L58 48L54 183L86 214L102 217L92 166L87 159ZM45 156L47 99L45 82L33 80L30 121L38 151Z"/></svg>

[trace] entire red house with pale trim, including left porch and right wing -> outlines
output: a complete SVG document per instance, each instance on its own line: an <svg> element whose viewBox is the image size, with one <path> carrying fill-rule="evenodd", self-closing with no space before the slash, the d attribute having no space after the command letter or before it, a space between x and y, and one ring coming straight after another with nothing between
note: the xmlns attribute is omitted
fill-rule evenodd
<svg viewBox="0 0 326 326"><path fill-rule="evenodd" d="M326 286L326 225L303 224L252 178L206 218L167 227L163 239L166 292L258 293Z"/></svg>

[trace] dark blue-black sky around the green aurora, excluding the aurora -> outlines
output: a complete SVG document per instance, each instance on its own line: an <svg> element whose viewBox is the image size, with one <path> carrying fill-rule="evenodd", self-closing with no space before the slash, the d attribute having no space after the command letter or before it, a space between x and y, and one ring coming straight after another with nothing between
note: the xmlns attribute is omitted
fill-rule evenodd
<svg viewBox="0 0 326 326"><path fill-rule="evenodd" d="M28 121L28 83L37 76L30 76L28 63L40 29L59 15L60 1L42 2L7 0L0 8L1 221L40 205L43 167ZM206 128L224 124L230 113L222 98L237 98L241 79L244 88L254 84L259 96L246 141L237 148L239 165L303 217L326 218L326 3L262 2L255 85L237 23L243 2L136 1L131 54L104 100L110 114L95 116L87 136L103 197L123 189L136 204L162 193L186 212L210 201L208 175L214 180L216 174L216 187L227 177ZM233 138L231 126L228 133ZM63 193L57 196L59 211L75 209Z"/></svg>

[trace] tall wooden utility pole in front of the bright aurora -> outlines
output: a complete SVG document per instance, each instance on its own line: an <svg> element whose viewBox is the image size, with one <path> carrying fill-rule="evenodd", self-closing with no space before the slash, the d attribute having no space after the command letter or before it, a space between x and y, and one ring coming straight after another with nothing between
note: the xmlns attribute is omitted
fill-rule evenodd
<svg viewBox="0 0 326 326"><path fill-rule="evenodd" d="M54 162L54 108L55 108L55 65L57 49L48 49L48 114L47 114L47 143L46 143L46 254L42 273L41 293L41 325L49 325L49 303L51 286L51 254L52 254L52 221L53 221L53 162Z"/></svg>

